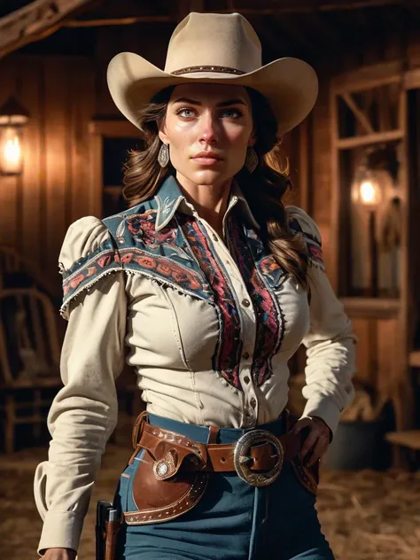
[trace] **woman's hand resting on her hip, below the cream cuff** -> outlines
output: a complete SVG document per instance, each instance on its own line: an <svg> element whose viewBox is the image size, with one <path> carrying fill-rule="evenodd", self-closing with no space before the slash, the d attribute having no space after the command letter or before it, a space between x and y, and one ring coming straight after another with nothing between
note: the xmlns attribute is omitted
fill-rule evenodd
<svg viewBox="0 0 420 560"><path fill-rule="evenodd" d="M299 433L305 428L309 428L309 433L303 442L299 456L308 467L312 467L327 451L332 434L327 424L318 416L301 418L293 426L292 432ZM311 453L309 454L309 452Z"/></svg>

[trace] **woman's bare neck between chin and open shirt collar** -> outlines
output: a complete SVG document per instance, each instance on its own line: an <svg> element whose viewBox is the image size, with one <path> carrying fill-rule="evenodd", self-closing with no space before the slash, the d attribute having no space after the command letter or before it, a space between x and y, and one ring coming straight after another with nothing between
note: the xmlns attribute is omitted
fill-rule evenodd
<svg viewBox="0 0 420 560"><path fill-rule="evenodd" d="M222 236L223 216L228 207L232 178L222 183L196 184L177 173L176 180L200 218L206 220Z"/></svg>

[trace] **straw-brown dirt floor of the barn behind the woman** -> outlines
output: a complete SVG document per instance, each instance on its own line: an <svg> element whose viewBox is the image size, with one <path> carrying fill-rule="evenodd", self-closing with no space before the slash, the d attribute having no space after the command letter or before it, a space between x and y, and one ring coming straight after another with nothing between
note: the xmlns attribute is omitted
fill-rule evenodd
<svg viewBox="0 0 420 560"><path fill-rule="evenodd" d="M33 474L46 452L35 448L0 455L0 558L36 558L41 519L33 499ZM86 519L80 560L94 560L95 503L112 499L128 456L108 445ZM337 560L420 559L420 472L323 471L318 499L323 533Z"/></svg>

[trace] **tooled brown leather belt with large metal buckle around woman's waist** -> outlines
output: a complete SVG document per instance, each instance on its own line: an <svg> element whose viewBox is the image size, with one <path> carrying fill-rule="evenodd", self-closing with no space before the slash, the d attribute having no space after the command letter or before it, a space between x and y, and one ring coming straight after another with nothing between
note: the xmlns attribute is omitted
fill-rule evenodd
<svg viewBox="0 0 420 560"><path fill-rule="evenodd" d="M234 444L215 443L218 429L210 428L210 441L203 444L182 434L148 424L139 417L133 432L136 451L146 449L154 460L156 478L172 478L180 468L187 471L237 471L252 486L268 486L282 471L284 461L299 455L301 437L292 432L276 436L272 432L255 429ZM213 439L213 441L212 441Z"/></svg>

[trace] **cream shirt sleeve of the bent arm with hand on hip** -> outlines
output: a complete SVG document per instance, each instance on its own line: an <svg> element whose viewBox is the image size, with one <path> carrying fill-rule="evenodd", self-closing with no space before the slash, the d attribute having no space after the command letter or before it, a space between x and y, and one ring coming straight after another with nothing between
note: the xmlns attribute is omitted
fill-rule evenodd
<svg viewBox="0 0 420 560"><path fill-rule="evenodd" d="M352 323L325 274L321 233L306 212L286 208L291 229L307 243L310 286L310 327L303 344L307 347L307 404L302 416L319 416L334 433L341 412L354 398L355 342Z"/></svg>

